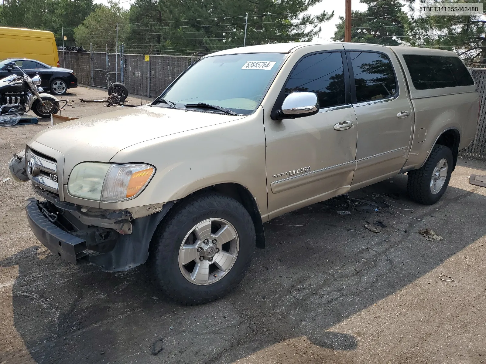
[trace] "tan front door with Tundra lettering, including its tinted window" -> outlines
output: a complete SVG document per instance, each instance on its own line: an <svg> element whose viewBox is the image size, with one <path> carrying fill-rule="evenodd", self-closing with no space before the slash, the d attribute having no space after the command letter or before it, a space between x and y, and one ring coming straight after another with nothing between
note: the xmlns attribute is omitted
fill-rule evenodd
<svg viewBox="0 0 486 364"><path fill-rule="evenodd" d="M346 64L344 51L307 55L285 84L285 96L314 92L319 99L319 113L265 120L269 218L349 189L357 132L343 60Z"/></svg>

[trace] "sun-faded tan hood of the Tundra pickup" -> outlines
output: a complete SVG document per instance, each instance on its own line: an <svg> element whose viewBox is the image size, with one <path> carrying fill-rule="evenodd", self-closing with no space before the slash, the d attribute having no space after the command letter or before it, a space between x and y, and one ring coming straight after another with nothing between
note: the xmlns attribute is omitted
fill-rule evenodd
<svg viewBox="0 0 486 364"><path fill-rule="evenodd" d="M63 153L65 170L70 170L69 165L74 167L80 162L109 162L121 149L137 143L242 117L149 105L121 107L54 125L33 139Z"/></svg>

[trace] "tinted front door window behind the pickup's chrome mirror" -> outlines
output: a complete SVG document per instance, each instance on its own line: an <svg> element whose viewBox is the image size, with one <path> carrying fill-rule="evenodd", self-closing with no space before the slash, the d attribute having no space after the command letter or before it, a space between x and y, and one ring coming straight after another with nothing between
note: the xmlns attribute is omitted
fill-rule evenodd
<svg viewBox="0 0 486 364"><path fill-rule="evenodd" d="M285 96L295 91L314 92L319 98L320 108L344 104L341 53L312 54L300 61L285 85Z"/></svg>

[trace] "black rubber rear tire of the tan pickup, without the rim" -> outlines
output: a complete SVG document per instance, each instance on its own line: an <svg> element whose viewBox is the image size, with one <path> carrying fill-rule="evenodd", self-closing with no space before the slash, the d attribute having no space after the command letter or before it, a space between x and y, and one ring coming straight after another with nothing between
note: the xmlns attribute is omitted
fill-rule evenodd
<svg viewBox="0 0 486 364"><path fill-rule="evenodd" d="M447 175L442 188L435 194L431 191L431 180L437 163L447 161ZM408 172L407 189L411 199L424 205L432 205L445 193L452 173L452 151L446 146L436 144L425 164L419 169Z"/></svg>

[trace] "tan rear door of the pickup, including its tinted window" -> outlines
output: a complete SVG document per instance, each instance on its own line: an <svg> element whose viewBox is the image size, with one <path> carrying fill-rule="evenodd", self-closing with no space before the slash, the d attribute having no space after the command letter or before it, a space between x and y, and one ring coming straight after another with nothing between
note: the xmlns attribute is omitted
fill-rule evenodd
<svg viewBox="0 0 486 364"><path fill-rule="evenodd" d="M354 187L397 174L410 146L413 113L401 68L385 47L346 44L358 126Z"/></svg>

